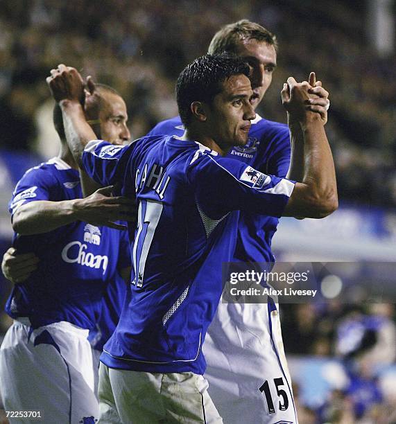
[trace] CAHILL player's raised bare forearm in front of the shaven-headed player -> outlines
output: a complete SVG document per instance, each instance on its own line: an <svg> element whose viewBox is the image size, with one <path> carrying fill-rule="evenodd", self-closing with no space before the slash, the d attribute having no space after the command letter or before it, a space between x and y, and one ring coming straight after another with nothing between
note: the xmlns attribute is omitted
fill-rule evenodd
<svg viewBox="0 0 396 424"><path fill-rule="evenodd" d="M85 119L83 107L76 100L62 100L60 102L64 123L64 133L67 144L78 166L82 166L82 156L85 145L96 139L96 135Z"/></svg>

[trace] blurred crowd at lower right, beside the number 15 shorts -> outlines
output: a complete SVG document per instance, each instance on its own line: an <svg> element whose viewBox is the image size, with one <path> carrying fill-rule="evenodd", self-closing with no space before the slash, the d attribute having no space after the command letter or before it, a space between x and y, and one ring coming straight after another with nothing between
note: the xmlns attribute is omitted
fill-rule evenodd
<svg viewBox="0 0 396 424"><path fill-rule="evenodd" d="M395 374L386 373L395 364L395 305L331 301L326 306L284 305L282 309L289 355L338 359L325 378L331 389L321 405L307 405L307 396L301 402L300 388L295 387L300 421L395 423ZM325 367L320 372L327 374Z"/></svg>

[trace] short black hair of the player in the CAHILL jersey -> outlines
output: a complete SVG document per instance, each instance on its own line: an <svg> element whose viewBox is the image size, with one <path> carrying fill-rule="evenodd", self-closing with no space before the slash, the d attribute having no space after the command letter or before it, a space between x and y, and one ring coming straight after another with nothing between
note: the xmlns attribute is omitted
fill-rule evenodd
<svg viewBox="0 0 396 424"><path fill-rule="evenodd" d="M221 84L230 76L239 74L249 78L249 66L230 53L207 54L187 65L176 83L176 99L184 126L187 127L191 120L191 103L212 103L214 96L221 92Z"/></svg>

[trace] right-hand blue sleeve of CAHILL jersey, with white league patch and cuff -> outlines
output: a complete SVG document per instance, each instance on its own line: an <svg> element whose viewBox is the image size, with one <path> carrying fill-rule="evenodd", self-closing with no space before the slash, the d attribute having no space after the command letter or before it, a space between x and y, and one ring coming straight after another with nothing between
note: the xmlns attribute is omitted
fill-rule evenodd
<svg viewBox="0 0 396 424"><path fill-rule="evenodd" d="M295 184L260 173L241 161L206 153L191 161L187 179L200 209L214 219L234 210L279 218Z"/></svg>

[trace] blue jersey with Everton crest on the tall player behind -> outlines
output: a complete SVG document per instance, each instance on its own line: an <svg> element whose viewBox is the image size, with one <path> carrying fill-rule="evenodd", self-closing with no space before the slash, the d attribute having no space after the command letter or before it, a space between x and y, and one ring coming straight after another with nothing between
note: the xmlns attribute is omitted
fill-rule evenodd
<svg viewBox="0 0 396 424"><path fill-rule="evenodd" d="M180 117L158 123L148 135L182 136L184 126ZM227 157L243 161L261 173L286 177L290 165L289 127L256 115L252 121L246 145L234 146ZM271 240L279 220L272 216L242 211L239 215L238 238L234 261L273 262Z"/></svg>

